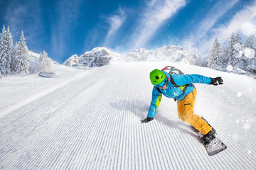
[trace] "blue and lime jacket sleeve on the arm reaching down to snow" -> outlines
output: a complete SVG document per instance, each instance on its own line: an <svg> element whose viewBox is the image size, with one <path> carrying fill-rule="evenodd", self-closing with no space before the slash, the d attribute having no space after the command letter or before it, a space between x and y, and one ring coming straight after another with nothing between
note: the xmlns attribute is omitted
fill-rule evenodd
<svg viewBox="0 0 256 170"><path fill-rule="evenodd" d="M156 114L156 109L160 105L161 98L162 94L160 94L156 87L154 87L152 91L152 100L149 107L149 113L147 115L149 118L154 118L154 115Z"/></svg>

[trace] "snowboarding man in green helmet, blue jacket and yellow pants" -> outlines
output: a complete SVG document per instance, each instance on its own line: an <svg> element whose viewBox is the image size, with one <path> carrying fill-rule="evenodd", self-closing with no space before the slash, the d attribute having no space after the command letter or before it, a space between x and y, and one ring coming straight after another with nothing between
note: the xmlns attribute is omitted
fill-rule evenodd
<svg viewBox="0 0 256 170"><path fill-rule="evenodd" d="M223 84L221 77L210 78L198 74L168 74L159 69L150 72L150 80L154 85L149 113L142 123L154 119L156 109L161 102L162 94L168 98L175 98L178 106L178 118L189 123L203 134L202 142L208 144L215 138L215 129L193 111L196 101L196 87L193 83Z"/></svg>

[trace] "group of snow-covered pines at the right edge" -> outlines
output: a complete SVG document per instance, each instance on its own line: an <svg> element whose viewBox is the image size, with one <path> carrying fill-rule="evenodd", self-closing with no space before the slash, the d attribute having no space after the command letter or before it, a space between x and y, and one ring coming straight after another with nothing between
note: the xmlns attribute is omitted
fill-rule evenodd
<svg viewBox="0 0 256 170"><path fill-rule="evenodd" d="M249 35L243 44L240 34L232 33L225 47L215 38L208 53L208 67L224 72L242 69L256 74L255 53L255 35Z"/></svg>

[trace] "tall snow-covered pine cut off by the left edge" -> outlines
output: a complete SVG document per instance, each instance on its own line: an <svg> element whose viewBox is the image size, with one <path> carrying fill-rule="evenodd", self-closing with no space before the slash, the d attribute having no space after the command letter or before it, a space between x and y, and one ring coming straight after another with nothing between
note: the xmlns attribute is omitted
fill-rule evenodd
<svg viewBox="0 0 256 170"><path fill-rule="evenodd" d="M9 27L7 31L5 27L3 28L0 44L0 72L6 76L11 73L11 56L14 49Z"/></svg>

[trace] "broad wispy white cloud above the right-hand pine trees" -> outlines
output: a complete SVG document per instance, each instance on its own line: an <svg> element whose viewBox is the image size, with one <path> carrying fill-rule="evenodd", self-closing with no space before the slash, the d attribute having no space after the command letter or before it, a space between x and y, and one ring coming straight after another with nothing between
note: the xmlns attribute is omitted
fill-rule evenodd
<svg viewBox="0 0 256 170"><path fill-rule="evenodd" d="M224 43L232 32L240 30L244 34L255 33L256 3L244 6L228 23L218 25L218 20L223 19L225 13L238 2L239 0L218 1L201 23L198 23L198 27L191 31L191 35L181 42L181 46L192 52L207 54L215 37Z"/></svg>

